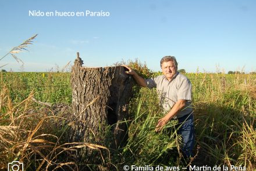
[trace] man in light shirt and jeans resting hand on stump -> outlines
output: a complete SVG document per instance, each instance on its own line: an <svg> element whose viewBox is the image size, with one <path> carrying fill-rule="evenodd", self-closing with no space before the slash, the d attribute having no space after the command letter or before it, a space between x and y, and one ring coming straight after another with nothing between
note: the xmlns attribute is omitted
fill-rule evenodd
<svg viewBox="0 0 256 171"><path fill-rule="evenodd" d="M182 151L186 157L193 157L194 125L193 110L191 108L192 88L187 77L177 71L177 61L174 56L165 56L161 59L163 75L144 79L128 66L127 74L133 76L138 85L147 88L157 88L159 102L166 113L158 120L155 131L159 132L170 119L177 119L180 128L177 133L183 138Z"/></svg>

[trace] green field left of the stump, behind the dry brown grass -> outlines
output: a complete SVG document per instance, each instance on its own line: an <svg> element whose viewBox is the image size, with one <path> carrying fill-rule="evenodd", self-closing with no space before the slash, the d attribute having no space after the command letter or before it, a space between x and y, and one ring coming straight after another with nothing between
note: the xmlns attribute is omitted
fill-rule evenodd
<svg viewBox="0 0 256 171"><path fill-rule="evenodd" d="M3 82L13 101L26 99L34 91L34 98L49 103L72 101L69 72L2 72Z"/></svg>

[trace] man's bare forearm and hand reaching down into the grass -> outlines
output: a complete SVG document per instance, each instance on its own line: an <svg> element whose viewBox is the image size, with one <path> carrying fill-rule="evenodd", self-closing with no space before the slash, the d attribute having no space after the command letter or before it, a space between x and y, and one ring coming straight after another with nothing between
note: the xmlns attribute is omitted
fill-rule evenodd
<svg viewBox="0 0 256 171"><path fill-rule="evenodd" d="M155 127L155 131L159 132L162 130L163 126L166 125L172 119L175 117L175 115L181 111L186 105L186 100L180 99L178 100L175 105L170 109L170 111L165 115L165 117L158 120L157 126Z"/></svg>

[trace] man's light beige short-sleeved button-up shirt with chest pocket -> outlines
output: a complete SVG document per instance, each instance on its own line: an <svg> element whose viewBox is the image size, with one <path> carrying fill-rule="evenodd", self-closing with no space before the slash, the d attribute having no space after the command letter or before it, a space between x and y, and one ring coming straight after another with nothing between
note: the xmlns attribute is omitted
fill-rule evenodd
<svg viewBox="0 0 256 171"><path fill-rule="evenodd" d="M186 100L186 105L182 111L179 111L175 118L183 117L190 114L192 86L189 79L177 72L173 78L168 81L164 75L159 75L155 78L146 79L147 87L157 88L158 99L160 105L165 112L169 112L178 100Z"/></svg>

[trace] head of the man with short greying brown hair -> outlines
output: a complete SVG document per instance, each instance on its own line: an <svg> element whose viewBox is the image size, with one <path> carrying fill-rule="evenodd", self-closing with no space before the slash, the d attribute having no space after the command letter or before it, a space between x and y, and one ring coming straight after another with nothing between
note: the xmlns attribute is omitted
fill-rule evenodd
<svg viewBox="0 0 256 171"><path fill-rule="evenodd" d="M170 81L177 73L177 61L174 56L165 56L160 61L163 75Z"/></svg>

